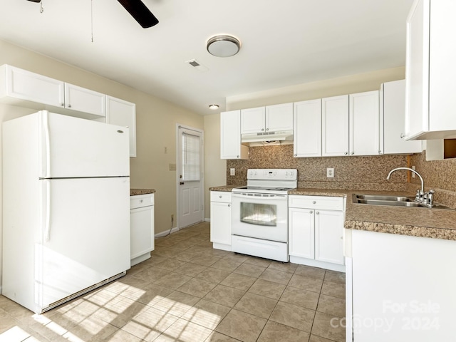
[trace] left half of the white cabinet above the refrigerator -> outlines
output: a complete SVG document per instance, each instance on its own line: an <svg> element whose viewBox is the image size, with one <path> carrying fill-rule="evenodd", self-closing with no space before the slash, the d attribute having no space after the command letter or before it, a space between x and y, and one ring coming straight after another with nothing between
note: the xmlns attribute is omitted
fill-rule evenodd
<svg viewBox="0 0 456 342"><path fill-rule="evenodd" d="M3 65L0 67L0 98L6 103L44 109L44 105L65 106L64 83L30 71Z"/></svg>

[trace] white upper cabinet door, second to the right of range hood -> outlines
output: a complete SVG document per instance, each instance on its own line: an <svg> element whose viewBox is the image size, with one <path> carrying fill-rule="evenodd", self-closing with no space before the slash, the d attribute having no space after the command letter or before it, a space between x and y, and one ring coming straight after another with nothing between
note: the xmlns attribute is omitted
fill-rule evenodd
<svg viewBox="0 0 456 342"><path fill-rule="evenodd" d="M348 155L348 95L321 99L321 126L321 155Z"/></svg>

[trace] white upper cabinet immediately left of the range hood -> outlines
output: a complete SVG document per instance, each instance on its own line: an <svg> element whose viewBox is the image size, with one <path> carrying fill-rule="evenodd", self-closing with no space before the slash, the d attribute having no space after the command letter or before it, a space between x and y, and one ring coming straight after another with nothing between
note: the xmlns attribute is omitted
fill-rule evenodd
<svg viewBox="0 0 456 342"><path fill-rule="evenodd" d="M241 110L220 113L220 159L249 159L249 147L241 145Z"/></svg>

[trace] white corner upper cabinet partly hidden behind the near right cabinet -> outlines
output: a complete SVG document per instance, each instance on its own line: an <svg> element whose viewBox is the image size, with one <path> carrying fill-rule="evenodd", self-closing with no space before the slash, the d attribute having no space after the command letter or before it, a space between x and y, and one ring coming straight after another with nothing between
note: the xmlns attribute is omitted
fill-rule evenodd
<svg viewBox="0 0 456 342"><path fill-rule="evenodd" d="M380 88L380 150L383 154L422 152L421 140L403 139L405 80L386 82Z"/></svg>

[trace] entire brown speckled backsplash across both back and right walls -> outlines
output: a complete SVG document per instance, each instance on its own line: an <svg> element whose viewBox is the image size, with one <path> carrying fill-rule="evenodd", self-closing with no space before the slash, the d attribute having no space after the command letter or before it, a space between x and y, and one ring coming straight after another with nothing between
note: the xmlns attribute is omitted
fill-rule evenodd
<svg viewBox="0 0 456 342"><path fill-rule="evenodd" d="M249 160L227 160L227 185L245 185L247 169L297 169L298 187L347 190L385 190L414 193L420 188L418 177L399 171L386 176L395 167L415 166L425 182L425 190L434 189L435 200L456 208L456 158L426 161L425 152L414 155L378 155L366 157L293 157L293 145L249 147ZM326 167L334 168L334 177L326 177ZM234 168L236 175L230 176Z"/></svg>

